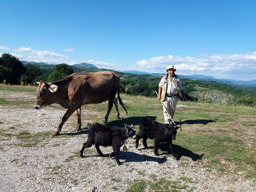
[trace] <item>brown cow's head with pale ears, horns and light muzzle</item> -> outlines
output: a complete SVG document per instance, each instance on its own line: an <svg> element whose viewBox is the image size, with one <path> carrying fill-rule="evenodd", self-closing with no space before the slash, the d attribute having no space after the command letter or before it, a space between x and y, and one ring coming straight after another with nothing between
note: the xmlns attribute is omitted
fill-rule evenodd
<svg viewBox="0 0 256 192"><path fill-rule="evenodd" d="M42 80L37 83L38 88L36 90L36 102L34 103L34 108L41 109L43 106L53 103L53 100L56 98L58 86L46 83Z"/></svg>

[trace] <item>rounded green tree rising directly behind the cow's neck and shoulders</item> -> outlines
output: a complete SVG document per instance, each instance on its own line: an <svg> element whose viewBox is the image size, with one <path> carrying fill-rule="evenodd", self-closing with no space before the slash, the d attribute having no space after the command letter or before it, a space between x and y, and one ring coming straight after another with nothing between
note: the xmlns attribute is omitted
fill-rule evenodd
<svg viewBox="0 0 256 192"><path fill-rule="evenodd" d="M74 70L72 70L70 66L68 66L67 64L59 64L54 70L50 72L47 77L47 82L53 82L59 79L63 79L66 76L71 75L72 73L74 73Z"/></svg>

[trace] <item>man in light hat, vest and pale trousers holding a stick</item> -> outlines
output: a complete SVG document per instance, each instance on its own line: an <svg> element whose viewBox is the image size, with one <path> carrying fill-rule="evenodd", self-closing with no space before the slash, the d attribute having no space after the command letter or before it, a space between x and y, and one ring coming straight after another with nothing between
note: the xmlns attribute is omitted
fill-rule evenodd
<svg viewBox="0 0 256 192"><path fill-rule="evenodd" d="M176 76L175 71L176 68L169 65L166 69L167 74L162 77L158 88L158 100L162 100L163 103L165 124L172 121L178 102L177 96L185 100L180 77Z"/></svg>

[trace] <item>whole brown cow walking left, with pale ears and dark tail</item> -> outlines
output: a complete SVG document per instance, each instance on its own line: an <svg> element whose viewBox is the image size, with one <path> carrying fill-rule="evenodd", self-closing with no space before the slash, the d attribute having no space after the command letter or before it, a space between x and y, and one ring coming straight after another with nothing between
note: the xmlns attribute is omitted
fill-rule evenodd
<svg viewBox="0 0 256 192"><path fill-rule="evenodd" d="M118 92L118 101L127 114L127 110L124 107L126 105L123 104L119 95L120 77L116 72L74 73L51 83L41 80L38 84L39 86L36 90L37 99L34 104L35 109L41 109L43 106L53 103L60 104L68 109L53 135L60 134L63 124L75 111L78 117L76 130L81 130L81 106L85 104L108 101L108 111L103 121L103 123L106 123L114 103L116 118L119 119L116 92Z"/></svg>

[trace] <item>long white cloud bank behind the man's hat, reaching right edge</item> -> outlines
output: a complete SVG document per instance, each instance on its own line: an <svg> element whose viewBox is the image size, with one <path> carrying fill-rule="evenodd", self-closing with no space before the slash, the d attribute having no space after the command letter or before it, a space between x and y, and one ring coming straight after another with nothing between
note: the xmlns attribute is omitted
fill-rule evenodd
<svg viewBox="0 0 256 192"><path fill-rule="evenodd" d="M166 67L173 64L177 74L204 74L216 78L240 80L256 79L256 52L244 54L222 54L195 57L160 56L141 60L133 66L134 70L164 73Z"/></svg>

